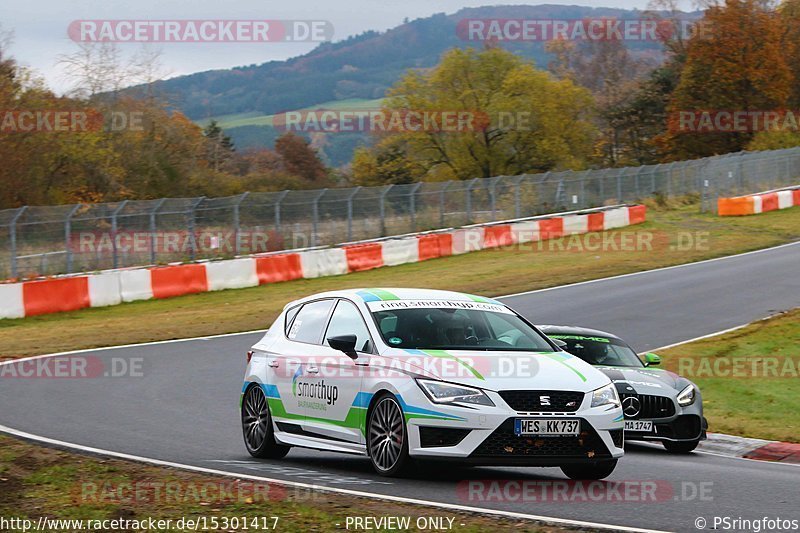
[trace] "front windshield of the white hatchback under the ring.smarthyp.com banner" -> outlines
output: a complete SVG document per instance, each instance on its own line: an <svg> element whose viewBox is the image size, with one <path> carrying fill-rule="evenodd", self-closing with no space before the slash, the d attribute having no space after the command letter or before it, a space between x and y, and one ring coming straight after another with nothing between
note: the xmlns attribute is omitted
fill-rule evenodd
<svg viewBox="0 0 800 533"><path fill-rule="evenodd" d="M402 308L404 303L396 304L400 308L371 309L384 342L393 348L555 351L547 339L504 306Z"/></svg>

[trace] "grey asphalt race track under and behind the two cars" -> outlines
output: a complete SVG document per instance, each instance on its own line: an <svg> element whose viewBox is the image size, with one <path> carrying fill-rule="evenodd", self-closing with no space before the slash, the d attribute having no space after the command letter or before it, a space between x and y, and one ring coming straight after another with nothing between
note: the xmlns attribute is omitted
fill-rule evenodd
<svg viewBox="0 0 800 533"><path fill-rule="evenodd" d="M431 268L436 265L431 262ZM799 307L799 267L800 243L796 243L504 301L535 323L608 329L638 351L646 351ZM238 400L244 354L258 336L84 354L104 359L141 357L142 377L2 379L0 425L203 468L620 526L695 531L700 516L709 524L714 516L800 518L800 468L701 453L671 456L660 446L629 445L610 478L653 480L669 487L672 492L656 503L481 502L457 491L462 480L565 479L554 468L452 466L410 479L385 479L374 475L363 457L295 449L281 461L253 460L242 443ZM693 497L698 487L710 487L710 499Z"/></svg>

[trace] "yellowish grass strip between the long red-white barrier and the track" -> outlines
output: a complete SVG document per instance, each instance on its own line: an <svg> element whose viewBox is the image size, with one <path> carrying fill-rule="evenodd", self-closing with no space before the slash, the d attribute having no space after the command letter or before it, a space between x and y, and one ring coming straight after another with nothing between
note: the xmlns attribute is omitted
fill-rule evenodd
<svg viewBox="0 0 800 533"><path fill-rule="evenodd" d="M741 218L700 214L696 205L651 209L645 224L613 233L617 241L654 236L654 245L579 251L577 241L556 239L543 249L485 250L346 276L0 320L0 357L264 329L286 303L332 289L421 287L499 296L726 256L800 238L800 209ZM677 248L681 236L702 244Z"/></svg>

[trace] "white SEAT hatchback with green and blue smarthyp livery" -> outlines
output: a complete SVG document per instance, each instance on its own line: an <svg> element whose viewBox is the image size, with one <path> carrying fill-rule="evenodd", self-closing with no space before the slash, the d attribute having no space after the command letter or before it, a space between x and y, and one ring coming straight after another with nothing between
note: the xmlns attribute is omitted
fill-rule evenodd
<svg viewBox="0 0 800 533"><path fill-rule="evenodd" d="M248 352L241 416L254 457L362 454L382 475L451 459L601 479L624 453L607 376L502 303L446 291L290 303Z"/></svg>

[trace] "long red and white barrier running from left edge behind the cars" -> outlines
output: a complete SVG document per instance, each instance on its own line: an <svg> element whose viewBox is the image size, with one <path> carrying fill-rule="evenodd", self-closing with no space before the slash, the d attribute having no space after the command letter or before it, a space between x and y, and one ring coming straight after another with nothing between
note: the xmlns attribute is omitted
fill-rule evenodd
<svg viewBox="0 0 800 533"><path fill-rule="evenodd" d="M436 257L640 224L645 221L645 214L643 205L617 206L403 235L331 248L6 283L0 284L0 319L416 263Z"/></svg>

